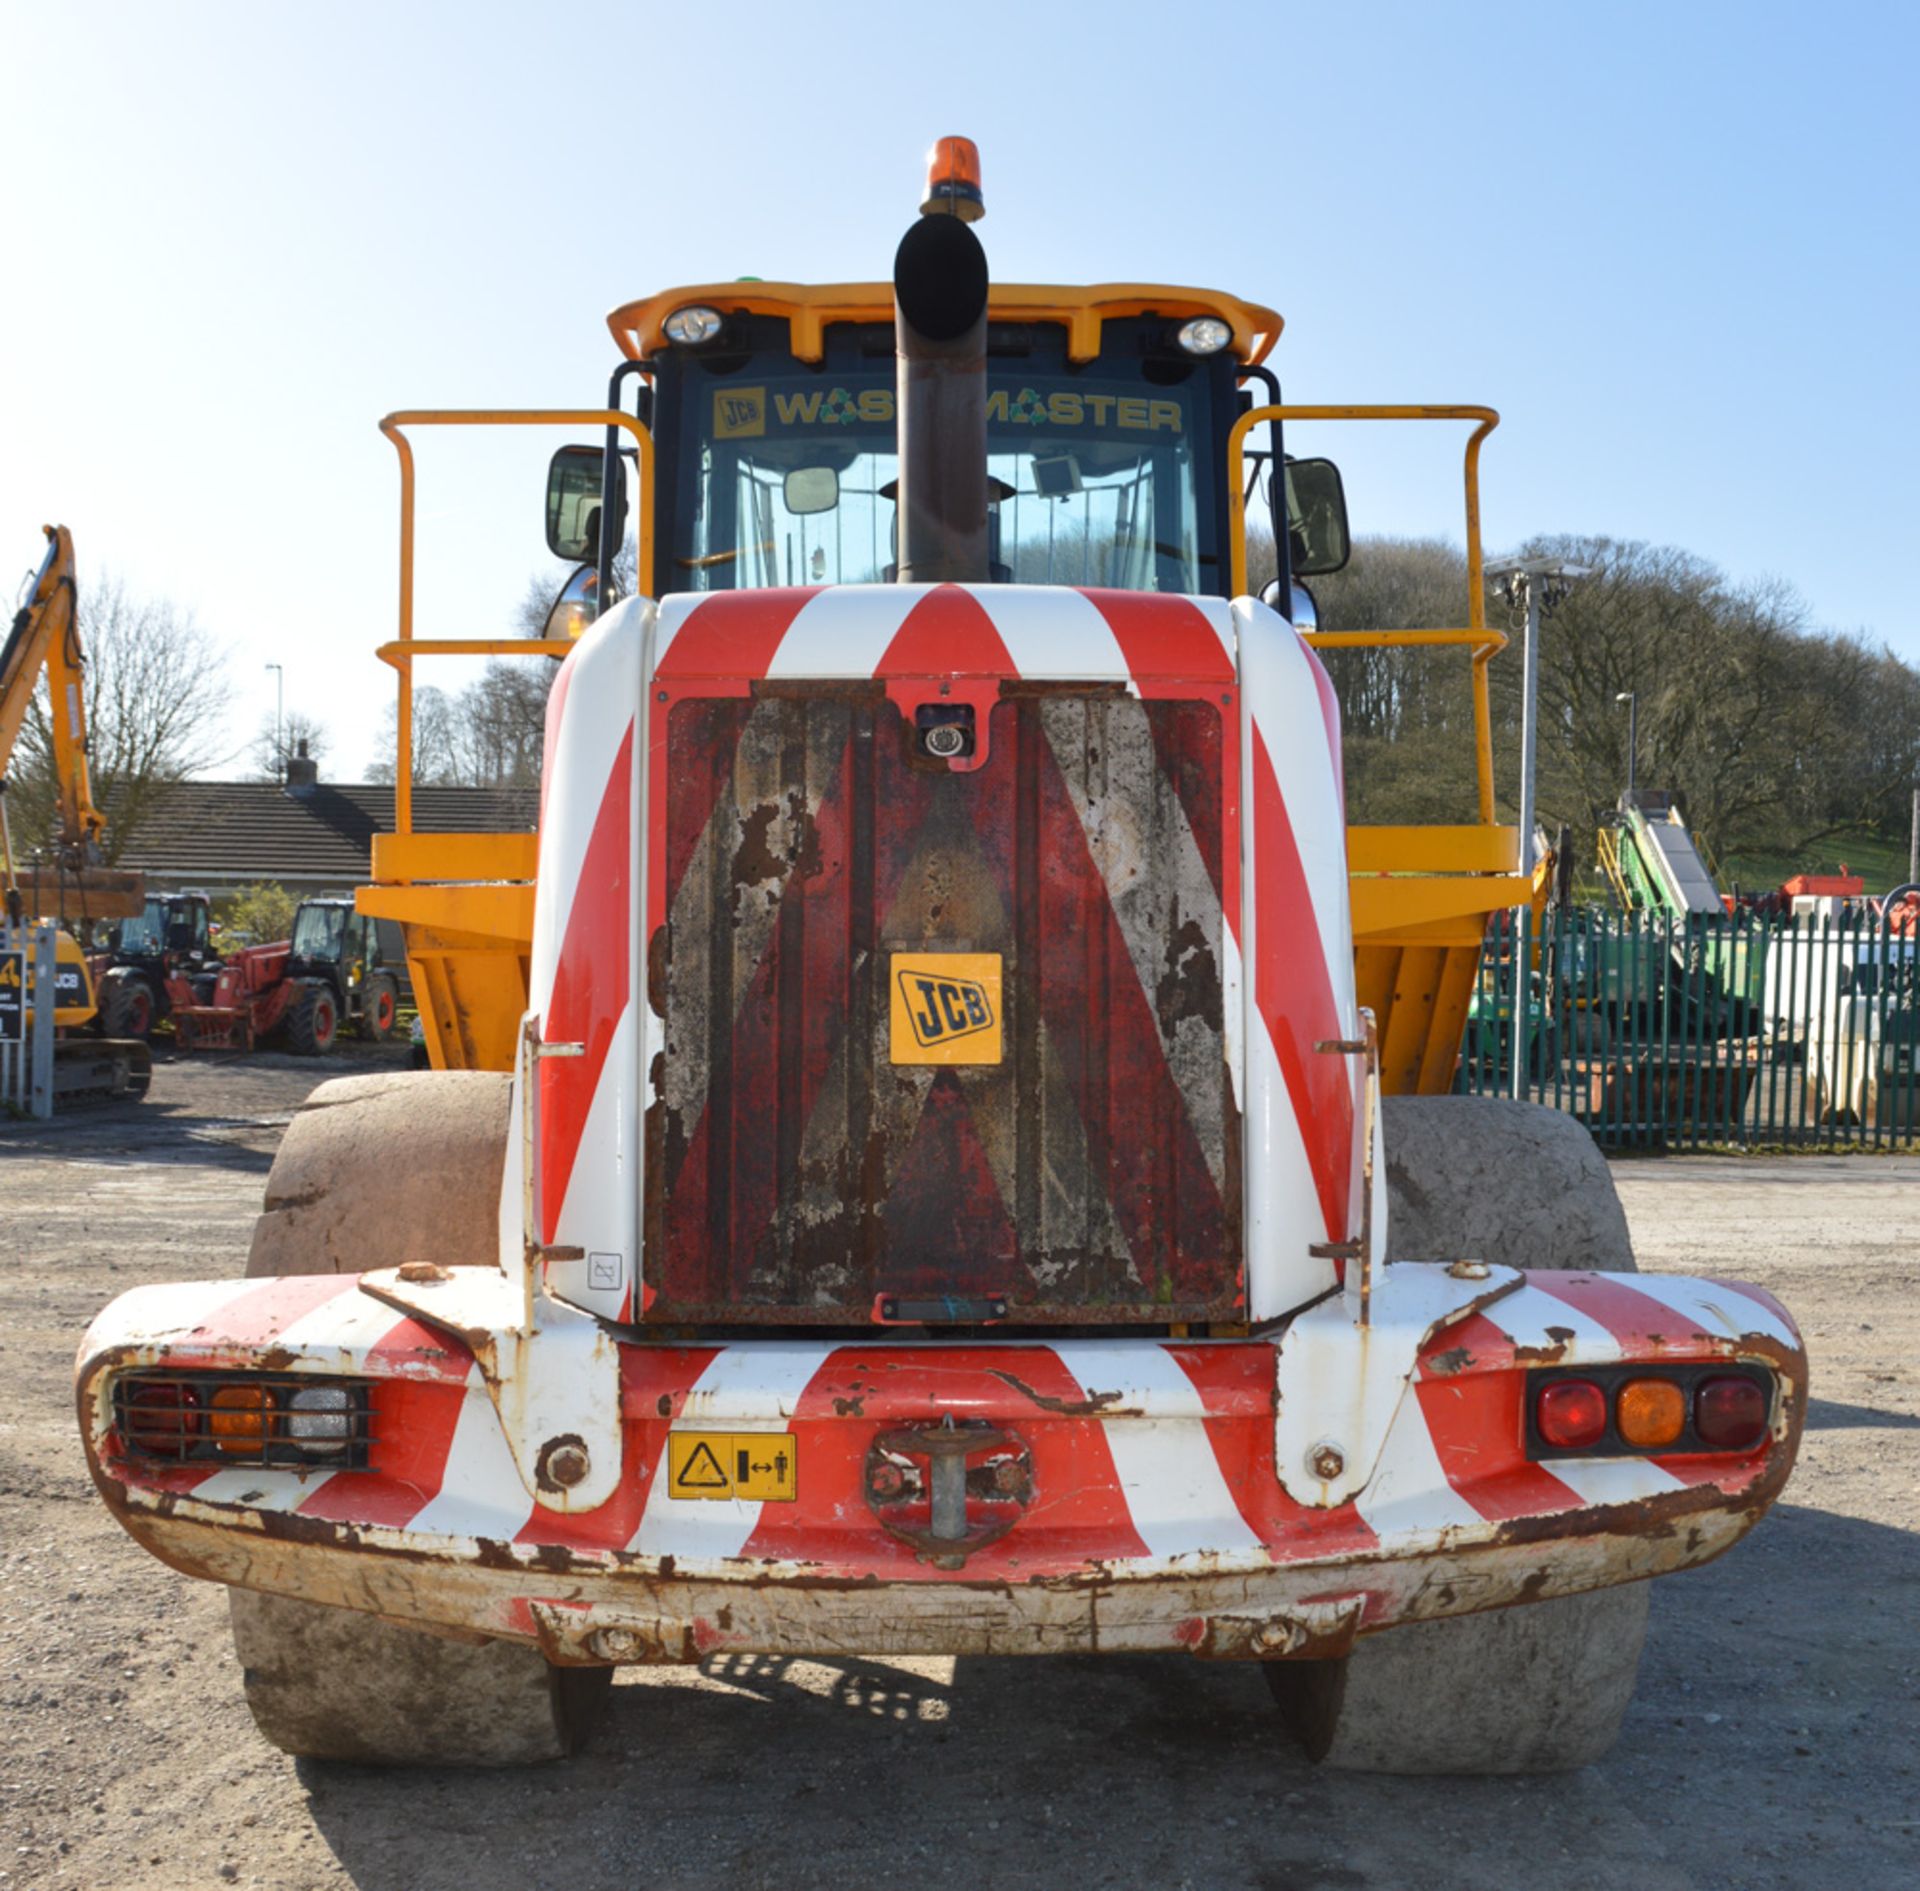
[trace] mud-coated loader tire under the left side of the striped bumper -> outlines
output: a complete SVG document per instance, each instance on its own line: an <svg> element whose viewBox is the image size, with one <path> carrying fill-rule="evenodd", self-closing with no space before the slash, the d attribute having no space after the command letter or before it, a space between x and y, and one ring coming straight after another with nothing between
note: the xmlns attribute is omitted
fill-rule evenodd
<svg viewBox="0 0 1920 1891"><path fill-rule="evenodd" d="M323 1083L288 1127L248 1275L409 1259L492 1267L507 1079L424 1071ZM557 1668L516 1641L449 1641L353 1609L228 1592L261 1734L371 1766L520 1766L578 1753L611 1668Z"/></svg>

